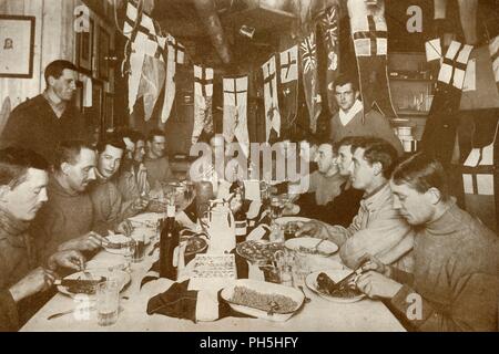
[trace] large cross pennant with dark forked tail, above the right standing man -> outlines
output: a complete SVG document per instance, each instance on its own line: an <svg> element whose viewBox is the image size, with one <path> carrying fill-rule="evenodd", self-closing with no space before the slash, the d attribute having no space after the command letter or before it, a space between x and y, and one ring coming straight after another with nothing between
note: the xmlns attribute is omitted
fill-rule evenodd
<svg viewBox="0 0 499 354"><path fill-rule="evenodd" d="M369 6L364 0L348 0L348 13L364 107L369 112L376 105L386 117L395 117L387 70L385 2Z"/></svg>

